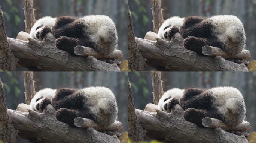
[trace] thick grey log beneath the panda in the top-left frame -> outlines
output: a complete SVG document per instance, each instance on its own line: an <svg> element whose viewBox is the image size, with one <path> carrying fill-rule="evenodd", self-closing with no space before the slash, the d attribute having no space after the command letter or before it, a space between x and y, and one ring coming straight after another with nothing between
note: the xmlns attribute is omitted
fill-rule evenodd
<svg viewBox="0 0 256 143"><path fill-rule="evenodd" d="M42 42L28 38L28 41L7 38L13 54L22 67L34 71L120 71L119 67L96 58L71 56L55 48L55 37L46 34Z"/></svg>

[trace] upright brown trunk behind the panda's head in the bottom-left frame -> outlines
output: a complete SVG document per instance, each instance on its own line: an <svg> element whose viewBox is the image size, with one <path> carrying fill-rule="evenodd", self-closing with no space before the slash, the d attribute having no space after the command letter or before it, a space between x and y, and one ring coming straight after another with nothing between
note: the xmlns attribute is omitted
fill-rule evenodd
<svg viewBox="0 0 256 143"><path fill-rule="evenodd" d="M23 76L24 76L24 86L25 86L25 101L27 105L30 105L31 99L36 94L34 79L33 79L33 72L25 71Z"/></svg>

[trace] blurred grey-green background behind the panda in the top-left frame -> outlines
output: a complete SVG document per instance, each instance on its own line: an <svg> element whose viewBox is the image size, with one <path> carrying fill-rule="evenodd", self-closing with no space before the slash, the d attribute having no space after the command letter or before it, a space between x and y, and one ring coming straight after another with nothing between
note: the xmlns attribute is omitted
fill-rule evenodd
<svg viewBox="0 0 256 143"><path fill-rule="evenodd" d="M19 31L25 31L24 0L0 0L4 12L7 36L16 38ZM128 0L33 0L36 19L43 16L107 15L115 23L123 60L127 59L127 5Z"/></svg>

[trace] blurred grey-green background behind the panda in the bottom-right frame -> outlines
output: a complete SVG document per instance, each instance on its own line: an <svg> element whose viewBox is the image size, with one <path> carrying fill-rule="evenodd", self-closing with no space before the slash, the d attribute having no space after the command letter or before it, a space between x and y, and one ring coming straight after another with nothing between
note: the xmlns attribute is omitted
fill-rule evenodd
<svg viewBox="0 0 256 143"><path fill-rule="evenodd" d="M129 72L135 108L153 103L151 72ZM251 130L256 130L256 72L162 72L164 91L171 88L234 86L242 93ZM249 132L250 132L249 131Z"/></svg>

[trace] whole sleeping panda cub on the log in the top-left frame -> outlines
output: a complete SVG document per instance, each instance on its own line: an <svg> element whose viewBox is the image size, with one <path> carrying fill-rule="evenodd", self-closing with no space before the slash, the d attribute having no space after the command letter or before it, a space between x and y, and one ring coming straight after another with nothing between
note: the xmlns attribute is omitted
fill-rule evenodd
<svg viewBox="0 0 256 143"><path fill-rule="evenodd" d="M56 39L56 48L74 54L77 45L93 48L100 54L110 54L117 48L118 36L115 23L105 15L43 17L36 21L30 38L42 41L51 32Z"/></svg>

